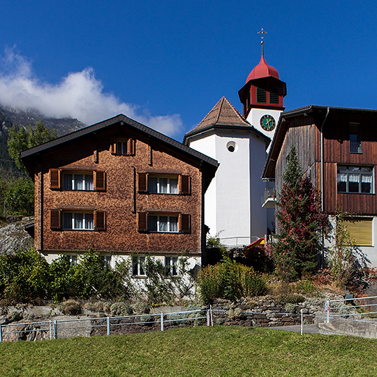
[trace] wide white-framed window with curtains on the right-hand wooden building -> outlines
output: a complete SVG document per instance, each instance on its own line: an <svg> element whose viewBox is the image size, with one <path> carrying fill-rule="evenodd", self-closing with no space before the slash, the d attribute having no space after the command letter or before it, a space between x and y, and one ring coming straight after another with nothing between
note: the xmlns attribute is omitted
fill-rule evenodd
<svg viewBox="0 0 377 377"><path fill-rule="evenodd" d="M374 193L371 166L338 165L337 186L339 193Z"/></svg>

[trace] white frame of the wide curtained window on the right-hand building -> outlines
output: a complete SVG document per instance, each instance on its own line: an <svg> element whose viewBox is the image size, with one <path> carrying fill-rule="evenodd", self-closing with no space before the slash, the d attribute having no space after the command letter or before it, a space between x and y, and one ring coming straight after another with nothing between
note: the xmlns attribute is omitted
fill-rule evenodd
<svg viewBox="0 0 377 377"><path fill-rule="evenodd" d="M369 168L371 171L363 172L361 170L352 170L352 168ZM359 191L350 191L350 182L353 176L358 177ZM363 177L371 177L371 191L369 193L362 192L362 179ZM345 179L345 180L344 180ZM339 182L346 182L346 191L339 191ZM337 165L337 192L338 193L362 193L374 194L374 166L368 165Z"/></svg>

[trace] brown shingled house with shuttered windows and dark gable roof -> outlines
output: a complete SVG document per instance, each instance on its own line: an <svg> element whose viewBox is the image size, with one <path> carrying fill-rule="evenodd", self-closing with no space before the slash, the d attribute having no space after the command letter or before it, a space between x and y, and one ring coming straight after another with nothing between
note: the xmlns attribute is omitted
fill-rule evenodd
<svg viewBox="0 0 377 377"><path fill-rule="evenodd" d="M204 194L216 160L119 114L22 151L35 183L34 245L48 262L89 249L111 265L146 254L172 273L185 254L200 264Z"/></svg>

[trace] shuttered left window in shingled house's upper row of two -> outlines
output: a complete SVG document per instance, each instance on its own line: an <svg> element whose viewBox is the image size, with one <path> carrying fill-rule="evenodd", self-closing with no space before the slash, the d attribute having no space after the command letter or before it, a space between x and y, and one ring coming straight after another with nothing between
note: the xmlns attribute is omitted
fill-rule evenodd
<svg viewBox="0 0 377 377"><path fill-rule="evenodd" d="M105 191L105 172L50 169L50 188L53 190Z"/></svg>

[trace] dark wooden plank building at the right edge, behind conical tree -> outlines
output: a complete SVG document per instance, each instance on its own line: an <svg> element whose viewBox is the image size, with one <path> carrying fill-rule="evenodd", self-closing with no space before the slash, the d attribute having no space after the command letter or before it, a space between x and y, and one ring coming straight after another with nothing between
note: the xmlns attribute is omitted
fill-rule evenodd
<svg viewBox="0 0 377 377"><path fill-rule="evenodd" d="M309 105L281 113L263 169L279 193L291 145L320 197L340 210L355 243L377 266L377 110Z"/></svg>

